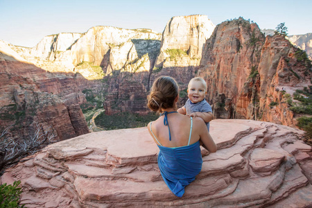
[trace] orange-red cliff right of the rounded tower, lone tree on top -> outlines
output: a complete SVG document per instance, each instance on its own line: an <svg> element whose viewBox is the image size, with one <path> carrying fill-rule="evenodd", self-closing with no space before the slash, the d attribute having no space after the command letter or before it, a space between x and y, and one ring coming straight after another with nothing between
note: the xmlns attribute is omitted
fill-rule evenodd
<svg viewBox="0 0 312 208"><path fill-rule="evenodd" d="M266 37L259 63L259 116L261 121L270 121L295 126L296 121L286 103L285 93L293 94L311 83L311 69L297 61L295 49L281 35ZM285 91L281 91L284 88ZM271 103L277 105L272 107Z"/></svg>

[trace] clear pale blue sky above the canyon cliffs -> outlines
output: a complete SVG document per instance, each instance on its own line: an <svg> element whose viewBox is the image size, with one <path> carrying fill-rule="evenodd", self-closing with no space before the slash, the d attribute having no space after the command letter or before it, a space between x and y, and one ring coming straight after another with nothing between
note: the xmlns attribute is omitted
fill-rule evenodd
<svg viewBox="0 0 312 208"><path fill-rule="evenodd" d="M0 0L0 40L33 47L46 35L94 26L162 33L171 17L187 15L207 15L215 25L243 17L261 29L285 22L288 35L301 35L312 33L311 6L311 0Z"/></svg>

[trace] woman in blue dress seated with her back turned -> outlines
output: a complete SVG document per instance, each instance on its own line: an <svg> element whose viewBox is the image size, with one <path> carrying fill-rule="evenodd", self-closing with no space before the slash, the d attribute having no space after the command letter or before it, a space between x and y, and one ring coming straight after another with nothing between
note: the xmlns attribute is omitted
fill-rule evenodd
<svg viewBox="0 0 312 208"><path fill-rule="evenodd" d="M216 144L200 117L179 114L177 82L162 76L155 80L148 107L160 116L148 123L148 131L159 147L158 166L164 182L175 196L182 197L184 187L195 180L202 168L200 144L209 152L216 152Z"/></svg>

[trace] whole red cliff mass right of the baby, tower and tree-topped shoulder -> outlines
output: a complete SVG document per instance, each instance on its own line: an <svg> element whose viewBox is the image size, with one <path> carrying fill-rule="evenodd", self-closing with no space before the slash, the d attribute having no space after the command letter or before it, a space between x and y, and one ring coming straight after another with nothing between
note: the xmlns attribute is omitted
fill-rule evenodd
<svg viewBox="0 0 312 208"><path fill-rule="evenodd" d="M283 36L265 38L257 24L241 18L218 25L198 71L207 80L214 116L295 126L279 89L309 86L311 73L295 58L296 50ZM278 105L271 107L272 102Z"/></svg>

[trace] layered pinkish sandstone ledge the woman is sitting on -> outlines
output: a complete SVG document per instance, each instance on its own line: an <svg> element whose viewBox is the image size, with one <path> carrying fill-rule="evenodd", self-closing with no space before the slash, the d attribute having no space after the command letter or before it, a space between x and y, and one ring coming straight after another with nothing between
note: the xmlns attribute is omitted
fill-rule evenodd
<svg viewBox="0 0 312 208"><path fill-rule="evenodd" d="M268 122L211 121L218 150L202 149L202 171L182 198L162 180L146 128L52 144L1 182L21 180L26 207L309 207L312 152L302 134Z"/></svg>

